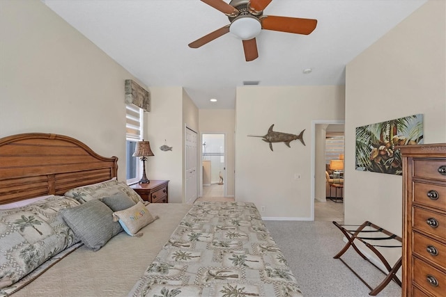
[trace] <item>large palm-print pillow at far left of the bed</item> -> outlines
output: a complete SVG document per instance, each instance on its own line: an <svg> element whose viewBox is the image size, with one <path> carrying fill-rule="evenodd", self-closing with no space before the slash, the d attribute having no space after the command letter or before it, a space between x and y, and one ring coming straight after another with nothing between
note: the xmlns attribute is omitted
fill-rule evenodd
<svg viewBox="0 0 446 297"><path fill-rule="evenodd" d="M79 202L73 198L53 195L0 211L0 289L77 242L59 213L77 205Z"/></svg>

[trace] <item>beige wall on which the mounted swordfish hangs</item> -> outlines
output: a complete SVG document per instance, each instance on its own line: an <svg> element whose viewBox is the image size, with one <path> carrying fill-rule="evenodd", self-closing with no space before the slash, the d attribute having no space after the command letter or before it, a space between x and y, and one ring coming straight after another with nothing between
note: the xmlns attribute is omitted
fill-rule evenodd
<svg viewBox="0 0 446 297"><path fill-rule="evenodd" d="M344 119L344 86L240 87L236 100L236 200L251 201L264 218L309 220L312 215L312 121ZM274 130L304 140L273 143L261 138ZM295 179L295 174L300 179Z"/></svg>

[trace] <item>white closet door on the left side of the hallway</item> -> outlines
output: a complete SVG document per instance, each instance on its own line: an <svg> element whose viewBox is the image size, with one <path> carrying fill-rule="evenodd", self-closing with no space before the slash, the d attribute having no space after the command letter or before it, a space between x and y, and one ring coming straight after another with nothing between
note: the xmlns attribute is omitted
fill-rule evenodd
<svg viewBox="0 0 446 297"><path fill-rule="evenodd" d="M198 198L197 132L186 127L186 203Z"/></svg>

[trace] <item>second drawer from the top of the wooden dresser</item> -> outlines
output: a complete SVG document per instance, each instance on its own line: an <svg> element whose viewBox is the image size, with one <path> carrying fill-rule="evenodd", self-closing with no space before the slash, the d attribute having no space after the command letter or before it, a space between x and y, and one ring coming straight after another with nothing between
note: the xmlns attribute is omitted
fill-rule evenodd
<svg viewBox="0 0 446 297"><path fill-rule="evenodd" d="M414 182L413 201L435 209L446 210L446 186Z"/></svg>

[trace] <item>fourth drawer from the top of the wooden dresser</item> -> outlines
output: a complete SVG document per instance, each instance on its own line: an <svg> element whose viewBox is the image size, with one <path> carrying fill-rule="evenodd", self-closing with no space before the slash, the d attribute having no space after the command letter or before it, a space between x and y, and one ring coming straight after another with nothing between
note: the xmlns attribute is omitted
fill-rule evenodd
<svg viewBox="0 0 446 297"><path fill-rule="evenodd" d="M429 259L446 270L446 244L413 232L413 253Z"/></svg>

